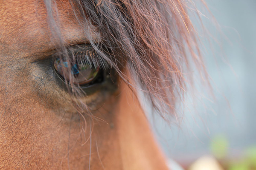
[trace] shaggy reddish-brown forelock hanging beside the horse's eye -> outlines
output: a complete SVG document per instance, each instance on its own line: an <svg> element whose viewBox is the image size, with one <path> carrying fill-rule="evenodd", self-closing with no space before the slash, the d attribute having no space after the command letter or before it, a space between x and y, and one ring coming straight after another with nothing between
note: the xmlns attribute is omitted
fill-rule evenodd
<svg viewBox="0 0 256 170"><path fill-rule="evenodd" d="M49 24L53 25L56 22L51 1L44 3ZM69 3L85 33L88 20L96 26L99 39L89 36L89 40L97 53L131 88L142 90L161 116L175 114L175 104L182 99L187 85L192 85L191 68L207 79L198 36L188 14L189 8L195 6L189 0ZM62 46L66 47L64 43Z"/></svg>

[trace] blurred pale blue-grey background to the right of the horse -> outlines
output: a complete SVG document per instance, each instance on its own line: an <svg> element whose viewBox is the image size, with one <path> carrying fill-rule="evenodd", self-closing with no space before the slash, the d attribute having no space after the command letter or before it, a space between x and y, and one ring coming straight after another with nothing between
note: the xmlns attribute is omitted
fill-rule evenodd
<svg viewBox="0 0 256 170"><path fill-rule="evenodd" d="M151 123L166 155L186 169L211 155L224 169L256 170L256 0L206 3L220 26L202 16L217 40L202 41L215 99L200 91L195 107L185 102L180 124Z"/></svg>

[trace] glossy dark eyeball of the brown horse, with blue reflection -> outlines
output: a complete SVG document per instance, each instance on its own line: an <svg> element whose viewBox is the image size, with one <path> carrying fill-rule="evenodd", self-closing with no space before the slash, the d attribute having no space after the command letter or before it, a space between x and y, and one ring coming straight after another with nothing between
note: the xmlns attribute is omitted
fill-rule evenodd
<svg viewBox="0 0 256 170"><path fill-rule="evenodd" d="M79 85L92 82L99 73L99 68L96 69L89 64L67 62L60 58L55 59L54 68L63 79Z"/></svg>

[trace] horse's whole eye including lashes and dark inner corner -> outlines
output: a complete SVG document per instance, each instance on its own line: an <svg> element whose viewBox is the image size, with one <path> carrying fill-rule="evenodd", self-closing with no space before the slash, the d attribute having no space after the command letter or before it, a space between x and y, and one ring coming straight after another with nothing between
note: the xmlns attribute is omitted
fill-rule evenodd
<svg viewBox="0 0 256 170"><path fill-rule="evenodd" d="M103 88L111 91L116 89L114 69L103 59L99 61L92 46L74 46L68 49L66 56L61 53L52 55L52 67L68 88L78 87L87 95Z"/></svg>

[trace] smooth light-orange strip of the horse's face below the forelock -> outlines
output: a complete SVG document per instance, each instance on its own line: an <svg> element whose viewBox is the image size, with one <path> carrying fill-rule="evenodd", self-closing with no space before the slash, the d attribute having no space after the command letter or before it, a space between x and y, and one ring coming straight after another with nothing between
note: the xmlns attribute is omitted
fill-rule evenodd
<svg viewBox="0 0 256 170"><path fill-rule="evenodd" d="M115 112L124 170L169 170L140 102L124 83L121 89Z"/></svg>

